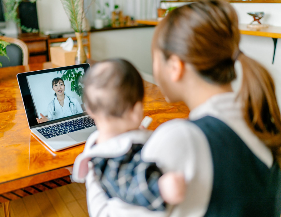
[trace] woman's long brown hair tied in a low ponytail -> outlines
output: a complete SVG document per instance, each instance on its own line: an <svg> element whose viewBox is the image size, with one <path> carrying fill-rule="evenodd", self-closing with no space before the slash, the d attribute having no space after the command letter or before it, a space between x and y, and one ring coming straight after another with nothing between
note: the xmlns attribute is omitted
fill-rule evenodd
<svg viewBox="0 0 281 217"><path fill-rule="evenodd" d="M238 18L232 6L222 0L199 0L176 8L155 30L153 49L165 59L172 54L190 63L202 78L227 84L236 78L234 62L243 68L238 97L249 128L279 159L281 119L269 72L239 51Z"/></svg>

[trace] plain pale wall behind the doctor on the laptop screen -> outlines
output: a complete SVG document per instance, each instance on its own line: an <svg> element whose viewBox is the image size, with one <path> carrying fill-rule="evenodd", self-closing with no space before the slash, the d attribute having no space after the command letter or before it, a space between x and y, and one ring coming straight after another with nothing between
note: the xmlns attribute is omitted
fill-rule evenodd
<svg viewBox="0 0 281 217"><path fill-rule="evenodd" d="M83 68L78 68L78 71L84 71ZM40 113L47 116L48 104L54 100L55 92L52 89L52 80L57 77L62 77L62 74L59 72L51 72L45 74L37 74L27 76L30 92L32 93L32 98L36 107L36 112L38 117L40 118ZM76 93L71 91L70 81L64 81L65 90L68 96L74 97L78 100L80 104L82 104L81 97L79 97ZM68 105L64 105L68 106Z"/></svg>

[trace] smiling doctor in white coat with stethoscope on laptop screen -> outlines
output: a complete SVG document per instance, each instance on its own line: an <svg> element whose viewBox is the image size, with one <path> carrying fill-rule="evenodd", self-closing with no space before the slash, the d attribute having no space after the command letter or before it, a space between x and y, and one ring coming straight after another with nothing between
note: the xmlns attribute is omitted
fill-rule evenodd
<svg viewBox="0 0 281 217"><path fill-rule="evenodd" d="M38 123L83 112L78 100L74 97L67 96L66 93L64 93L65 85L62 78L54 78L52 80L52 88L55 91L55 98L48 105L48 117L40 113L42 118L36 118Z"/></svg>

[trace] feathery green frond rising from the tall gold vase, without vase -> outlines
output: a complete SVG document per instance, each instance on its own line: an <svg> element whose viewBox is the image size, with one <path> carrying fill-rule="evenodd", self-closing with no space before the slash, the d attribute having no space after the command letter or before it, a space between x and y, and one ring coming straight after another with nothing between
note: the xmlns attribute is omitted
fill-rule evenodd
<svg viewBox="0 0 281 217"><path fill-rule="evenodd" d="M81 32L83 0L61 0L63 9L75 32Z"/></svg>

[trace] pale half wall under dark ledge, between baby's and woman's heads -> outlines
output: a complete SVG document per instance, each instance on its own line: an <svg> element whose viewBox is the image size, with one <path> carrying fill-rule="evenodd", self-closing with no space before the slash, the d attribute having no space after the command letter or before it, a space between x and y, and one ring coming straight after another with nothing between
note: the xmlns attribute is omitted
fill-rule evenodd
<svg viewBox="0 0 281 217"><path fill-rule="evenodd" d="M125 58L138 70L152 74L151 39L154 27L91 33L91 58Z"/></svg>

